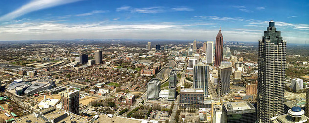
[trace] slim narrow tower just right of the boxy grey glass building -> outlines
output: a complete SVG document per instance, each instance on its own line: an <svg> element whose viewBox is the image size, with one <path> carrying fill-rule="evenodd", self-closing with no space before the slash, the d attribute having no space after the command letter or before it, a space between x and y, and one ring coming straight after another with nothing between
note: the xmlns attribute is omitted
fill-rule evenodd
<svg viewBox="0 0 309 123"><path fill-rule="evenodd" d="M176 70L171 70L169 75L169 96L168 101L174 101L176 96L177 77Z"/></svg>

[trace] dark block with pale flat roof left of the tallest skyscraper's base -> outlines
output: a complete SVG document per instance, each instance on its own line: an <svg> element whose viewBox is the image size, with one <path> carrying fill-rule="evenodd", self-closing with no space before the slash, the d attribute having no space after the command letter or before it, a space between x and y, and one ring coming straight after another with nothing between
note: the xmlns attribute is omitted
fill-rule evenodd
<svg viewBox="0 0 309 123"><path fill-rule="evenodd" d="M221 123L255 123L256 112L250 102L223 102Z"/></svg>

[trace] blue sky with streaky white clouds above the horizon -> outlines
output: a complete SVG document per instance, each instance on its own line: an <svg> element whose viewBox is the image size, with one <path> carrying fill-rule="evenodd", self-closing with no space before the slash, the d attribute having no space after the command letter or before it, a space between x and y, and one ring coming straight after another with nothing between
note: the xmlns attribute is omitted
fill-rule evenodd
<svg viewBox="0 0 309 123"><path fill-rule="evenodd" d="M167 39L258 42L268 22L309 43L309 0L0 0L0 41Z"/></svg>

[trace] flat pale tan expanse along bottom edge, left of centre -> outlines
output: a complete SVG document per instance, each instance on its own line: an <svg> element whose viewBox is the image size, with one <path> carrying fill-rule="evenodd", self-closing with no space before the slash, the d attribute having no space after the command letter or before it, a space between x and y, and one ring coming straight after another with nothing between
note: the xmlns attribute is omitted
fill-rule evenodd
<svg viewBox="0 0 309 123"><path fill-rule="evenodd" d="M112 118L108 118L107 115L100 115L100 118L98 120L100 121L100 123L140 123L141 122L138 120L119 118L116 116Z"/></svg>

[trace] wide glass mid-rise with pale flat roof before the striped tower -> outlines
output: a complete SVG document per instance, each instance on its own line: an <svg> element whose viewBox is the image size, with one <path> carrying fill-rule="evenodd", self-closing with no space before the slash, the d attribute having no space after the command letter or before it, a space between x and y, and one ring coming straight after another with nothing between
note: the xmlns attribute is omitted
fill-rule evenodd
<svg viewBox="0 0 309 123"><path fill-rule="evenodd" d="M179 107L204 108L203 89L183 89L179 92Z"/></svg>

